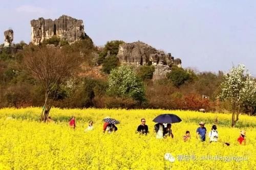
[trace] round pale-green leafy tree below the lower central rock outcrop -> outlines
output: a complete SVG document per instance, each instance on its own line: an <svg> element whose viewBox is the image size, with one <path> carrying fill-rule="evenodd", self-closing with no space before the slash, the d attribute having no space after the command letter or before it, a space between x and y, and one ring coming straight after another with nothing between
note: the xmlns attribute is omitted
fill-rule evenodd
<svg viewBox="0 0 256 170"><path fill-rule="evenodd" d="M145 101L142 81L131 66L122 65L110 72L107 93L120 98L132 98L140 104Z"/></svg>

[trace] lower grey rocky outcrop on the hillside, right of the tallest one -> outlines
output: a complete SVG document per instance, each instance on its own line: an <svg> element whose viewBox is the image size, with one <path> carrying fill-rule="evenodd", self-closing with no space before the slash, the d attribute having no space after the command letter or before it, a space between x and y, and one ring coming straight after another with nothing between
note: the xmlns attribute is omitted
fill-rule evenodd
<svg viewBox="0 0 256 170"><path fill-rule="evenodd" d="M121 64L154 65L153 80L164 78L168 72L172 71L174 65L181 67L180 59L174 59L170 53L156 50L141 41L120 44L117 57Z"/></svg>

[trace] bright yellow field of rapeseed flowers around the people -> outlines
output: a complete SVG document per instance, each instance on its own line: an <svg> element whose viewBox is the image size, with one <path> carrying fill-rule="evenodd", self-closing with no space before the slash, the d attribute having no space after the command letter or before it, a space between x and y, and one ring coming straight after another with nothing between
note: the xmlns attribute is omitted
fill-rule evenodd
<svg viewBox="0 0 256 170"><path fill-rule="evenodd" d="M237 128L230 128L230 114L54 108L50 116L56 123L45 124L38 121L40 111L0 109L0 169L255 169L256 117L241 115ZM153 133L152 120L161 113L174 113L183 120L173 124L173 139L156 139ZM75 130L68 124L71 115L76 116ZM102 133L106 116L120 121L116 133ZM206 122L209 131L216 117L219 142L197 140L198 123ZM147 136L135 134L141 118L150 129ZM84 132L89 120L94 130ZM242 129L246 145L237 141ZM182 140L186 130L191 134L188 142ZM175 161L165 160L165 153Z"/></svg>

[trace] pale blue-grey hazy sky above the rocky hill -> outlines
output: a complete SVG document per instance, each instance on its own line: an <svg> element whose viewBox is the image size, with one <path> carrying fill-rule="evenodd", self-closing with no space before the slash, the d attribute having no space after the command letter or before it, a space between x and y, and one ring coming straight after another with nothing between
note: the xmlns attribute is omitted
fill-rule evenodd
<svg viewBox="0 0 256 170"><path fill-rule="evenodd" d="M30 20L65 14L82 19L95 45L143 41L197 71L227 72L244 64L256 77L254 0L23 0L1 1L0 43L31 41ZM1 37L1 36L0 36Z"/></svg>

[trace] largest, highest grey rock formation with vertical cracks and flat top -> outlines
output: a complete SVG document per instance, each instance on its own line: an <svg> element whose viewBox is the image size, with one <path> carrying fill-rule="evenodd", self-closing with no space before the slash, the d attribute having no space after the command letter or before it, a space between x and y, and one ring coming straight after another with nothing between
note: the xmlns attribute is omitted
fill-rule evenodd
<svg viewBox="0 0 256 170"><path fill-rule="evenodd" d="M54 21L44 18L33 19L30 23L31 42L35 45L53 36L70 44L88 37L84 32L83 21L67 15L62 15Z"/></svg>

